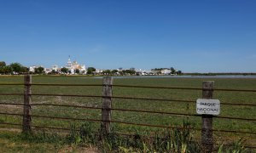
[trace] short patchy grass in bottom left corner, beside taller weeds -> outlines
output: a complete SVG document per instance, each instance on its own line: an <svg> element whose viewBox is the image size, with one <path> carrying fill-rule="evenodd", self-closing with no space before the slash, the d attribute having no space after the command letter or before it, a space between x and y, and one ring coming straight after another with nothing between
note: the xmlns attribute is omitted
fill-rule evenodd
<svg viewBox="0 0 256 153"><path fill-rule="evenodd" d="M73 145L58 134L0 132L1 152L100 152L90 145Z"/></svg>

